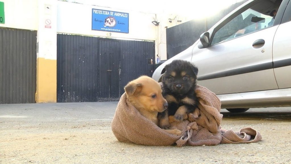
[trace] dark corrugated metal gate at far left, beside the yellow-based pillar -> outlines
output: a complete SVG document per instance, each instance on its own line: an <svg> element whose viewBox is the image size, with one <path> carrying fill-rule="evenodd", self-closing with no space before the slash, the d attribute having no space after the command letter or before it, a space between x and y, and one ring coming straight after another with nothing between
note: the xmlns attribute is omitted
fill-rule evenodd
<svg viewBox="0 0 291 164"><path fill-rule="evenodd" d="M36 34L0 28L0 104L36 102Z"/></svg>

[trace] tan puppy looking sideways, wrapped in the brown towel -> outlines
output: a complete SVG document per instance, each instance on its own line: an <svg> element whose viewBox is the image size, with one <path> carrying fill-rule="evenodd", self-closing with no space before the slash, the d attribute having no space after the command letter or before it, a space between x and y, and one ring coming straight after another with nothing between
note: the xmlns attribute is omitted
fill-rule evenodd
<svg viewBox="0 0 291 164"><path fill-rule="evenodd" d="M158 112L162 112L168 107L159 83L148 76L141 76L127 83L124 90L129 102L141 115L158 125ZM182 131L178 129L163 130L173 135L182 134Z"/></svg>

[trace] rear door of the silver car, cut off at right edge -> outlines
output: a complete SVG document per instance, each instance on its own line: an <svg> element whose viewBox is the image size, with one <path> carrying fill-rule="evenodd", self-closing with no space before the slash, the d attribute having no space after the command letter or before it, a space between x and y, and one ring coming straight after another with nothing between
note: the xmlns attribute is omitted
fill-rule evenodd
<svg viewBox="0 0 291 164"><path fill-rule="evenodd" d="M289 2L273 44L274 73L278 87L291 88L291 4Z"/></svg>

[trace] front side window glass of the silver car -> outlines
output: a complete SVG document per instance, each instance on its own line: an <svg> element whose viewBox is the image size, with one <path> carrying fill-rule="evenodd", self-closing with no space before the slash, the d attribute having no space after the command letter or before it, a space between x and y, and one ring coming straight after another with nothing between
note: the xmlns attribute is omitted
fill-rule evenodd
<svg viewBox="0 0 291 164"><path fill-rule="evenodd" d="M281 2L263 0L252 5L217 30L211 45L273 26Z"/></svg>

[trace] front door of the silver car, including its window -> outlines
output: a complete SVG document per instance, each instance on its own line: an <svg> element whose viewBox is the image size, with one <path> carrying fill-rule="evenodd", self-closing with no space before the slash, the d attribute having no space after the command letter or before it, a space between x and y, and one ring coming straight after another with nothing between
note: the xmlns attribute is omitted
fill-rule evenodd
<svg viewBox="0 0 291 164"><path fill-rule="evenodd" d="M273 25L269 13L280 4L253 1L215 27L210 46L192 51L191 61L199 68L198 84L216 94L278 89L272 65L278 25Z"/></svg>

